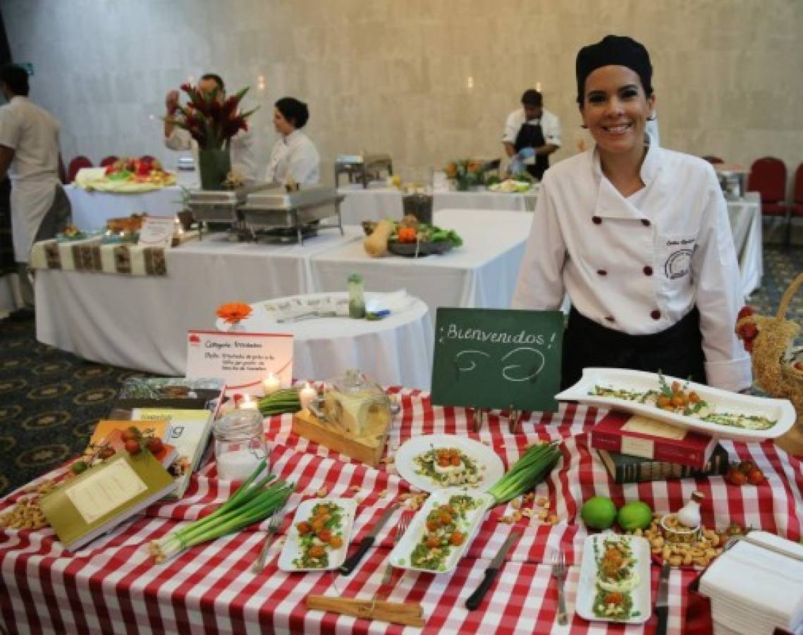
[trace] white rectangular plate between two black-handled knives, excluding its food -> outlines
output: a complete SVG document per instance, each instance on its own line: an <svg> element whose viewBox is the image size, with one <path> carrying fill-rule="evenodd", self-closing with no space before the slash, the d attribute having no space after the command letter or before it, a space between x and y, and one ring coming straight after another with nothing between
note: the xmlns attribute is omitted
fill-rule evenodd
<svg viewBox="0 0 803 635"><path fill-rule="evenodd" d="M446 505L449 502L449 498L452 496L470 496L479 503L475 509L467 512L466 514L466 522L463 525L466 534L466 540L459 547L450 547L449 555L446 557L442 569L435 571L433 569L414 566L410 556L412 555L415 546L422 539L422 536L429 533L426 530L427 515L430 514L430 511L432 511L434 507ZM457 566L457 563L463 557L463 554L466 552L469 544L471 544L471 540L474 539L477 531L479 530L479 525L483 522L485 512L491 505L493 505L493 502L494 499L491 494L483 494L476 490L468 490L463 487L449 487L443 490L435 490L432 494L430 494L430 498L426 499L424 506L422 506L422 508L418 510L418 513L415 514L413 520L410 522L410 526L407 528L407 531L402 538L399 539L396 547L393 547L393 551L390 552L389 556L390 563L393 565L393 567L410 569L410 571L420 571L426 573L450 572L452 569L454 569L454 567Z"/></svg>

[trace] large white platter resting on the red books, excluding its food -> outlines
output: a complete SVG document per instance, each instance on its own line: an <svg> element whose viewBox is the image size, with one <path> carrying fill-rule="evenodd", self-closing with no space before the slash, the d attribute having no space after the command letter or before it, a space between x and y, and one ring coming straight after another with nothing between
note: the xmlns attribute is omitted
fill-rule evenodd
<svg viewBox="0 0 803 635"><path fill-rule="evenodd" d="M619 399L606 395L591 395L595 386L612 387L629 391L648 391L659 386L658 375L643 371L630 371L622 368L585 368L580 381L574 386L555 395L559 401L578 401L589 406L603 406L614 410L632 412L651 419L674 424L681 428L691 428L718 439L732 439L757 443L765 439L775 439L792 428L797 420L797 412L789 399L768 399L752 395L741 395L719 388L705 386L702 383L687 382L685 379L664 375L671 385L679 381L689 391L695 391L715 412L732 412L745 416L765 416L777 423L765 430L737 428L735 426L715 424L655 408L650 404L640 404L630 399Z"/></svg>

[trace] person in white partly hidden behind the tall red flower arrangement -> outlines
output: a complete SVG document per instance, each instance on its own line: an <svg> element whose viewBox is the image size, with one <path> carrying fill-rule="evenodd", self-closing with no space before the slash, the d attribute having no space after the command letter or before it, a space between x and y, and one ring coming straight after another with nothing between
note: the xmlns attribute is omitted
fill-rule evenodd
<svg viewBox="0 0 803 635"><path fill-rule="evenodd" d="M226 87L222 77L214 73L206 73L198 81L198 90L201 92L212 92L217 89L215 98L218 101L226 100ZM193 139L188 130L179 128L175 124L176 112L178 109L178 91L171 90L165 97L165 145L170 150L191 150L195 165L198 166L198 143ZM239 174L243 181L254 182L257 175L257 161L254 154L254 137L251 129L238 130L234 137L231 137L231 171Z"/></svg>

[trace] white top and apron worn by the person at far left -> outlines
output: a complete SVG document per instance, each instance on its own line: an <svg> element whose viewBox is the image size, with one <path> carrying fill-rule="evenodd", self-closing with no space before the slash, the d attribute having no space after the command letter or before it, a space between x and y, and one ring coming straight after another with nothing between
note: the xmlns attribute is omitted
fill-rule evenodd
<svg viewBox="0 0 803 635"><path fill-rule="evenodd" d="M27 262L60 182L59 122L27 97L14 96L0 108L0 145L14 150L8 173L14 260Z"/></svg>

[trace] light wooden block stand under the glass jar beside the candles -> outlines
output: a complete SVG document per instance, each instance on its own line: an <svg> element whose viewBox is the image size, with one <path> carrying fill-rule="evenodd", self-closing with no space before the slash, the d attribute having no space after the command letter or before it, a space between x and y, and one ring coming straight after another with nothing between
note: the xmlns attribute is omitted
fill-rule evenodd
<svg viewBox="0 0 803 635"><path fill-rule="evenodd" d="M385 453L392 420L392 416L386 416L381 410L371 411L365 436L351 436L320 420L312 412L302 410L293 415L292 430L298 436L376 467Z"/></svg>

